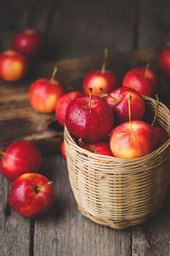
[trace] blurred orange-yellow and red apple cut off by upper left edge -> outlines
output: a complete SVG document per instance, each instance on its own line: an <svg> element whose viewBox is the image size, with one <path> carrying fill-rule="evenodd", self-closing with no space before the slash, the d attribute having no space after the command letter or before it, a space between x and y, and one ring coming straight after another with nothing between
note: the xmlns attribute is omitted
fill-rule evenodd
<svg viewBox="0 0 170 256"><path fill-rule="evenodd" d="M0 55L0 77L8 82L22 79L27 72L26 57L19 52L8 49Z"/></svg>

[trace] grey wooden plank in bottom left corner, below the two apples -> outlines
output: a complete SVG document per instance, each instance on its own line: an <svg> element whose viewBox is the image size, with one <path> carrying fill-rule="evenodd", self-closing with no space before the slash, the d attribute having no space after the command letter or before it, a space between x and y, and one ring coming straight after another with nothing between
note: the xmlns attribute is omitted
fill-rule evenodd
<svg viewBox="0 0 170 256"><path fill-rule="evenodd" d="M8 181L0 175L0 255L30 256L30 219L14 213L8 205Z"/></svg>

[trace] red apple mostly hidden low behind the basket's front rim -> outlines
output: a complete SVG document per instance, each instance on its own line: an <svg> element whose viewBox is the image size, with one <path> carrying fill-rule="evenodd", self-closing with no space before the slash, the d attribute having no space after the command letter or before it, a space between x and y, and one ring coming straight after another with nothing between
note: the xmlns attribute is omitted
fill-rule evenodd
<svg viewBox="0 0 170 256"><path fill-rule="evenodd" d="M99 141L95 143L86 143L82 148L87 149L88 151L94 154L104 154L113 156L111 153L110 144L105 141Z"/></svg>

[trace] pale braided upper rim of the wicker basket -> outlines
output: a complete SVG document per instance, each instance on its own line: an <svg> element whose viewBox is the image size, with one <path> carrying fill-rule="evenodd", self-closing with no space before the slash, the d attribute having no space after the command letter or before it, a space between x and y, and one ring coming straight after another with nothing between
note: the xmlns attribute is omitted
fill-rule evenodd
<svg viewBox="0 0 170 256"><path fill-rule="evenodd" d="M102 97L105 97L105 95L101 95ZM154 102L156 103L156 100L149 97L149 96L142 96L144 98L144 100L147 100L147 101L150 101L150 102ZM169 120L170 120L170 110L167 108L167 106L165 104L163 104L162 102L159 102L159 106L163 107L167 114L169 115ZM157 157L159 154L162 153L162 150L166 150L166 148L170 145L170 137L169 139L167 140L166 143L163 143L159 148L156 148L154 151L150 152L150 154L146 154L144 156L141 156L141 157L138 157L138 158L127 158L127 159L124 159L124 158L119 158L119 157L116 157L116 156L109 156L109 155L104 155L104 154L95 154L93 152L90 152L88 151L87 149L84 149L84 148L81 148L80 146L77 145L77 143L74 141L73 137L71 137L71 134L70 132L67 130L66 128L66 125L65 125L65 130L64 130L64 138L65 138L65 135L67 134L67 136L69 137L70 139L70 143L72 144L72 146L74 146L75 148L77 148L77 150L80 150L81 149L81 152L83 154L86 154L88 155L88 157L93 157L94 160L105 160L105 162L111 162L111 161L115 161L115 162L120 162L120 163L135 163L135 162L139 162L141 161L144 161L144 160L147 160L147 159L150 159L150 157ZM141 163L142 164L142 163Z"/></svg>

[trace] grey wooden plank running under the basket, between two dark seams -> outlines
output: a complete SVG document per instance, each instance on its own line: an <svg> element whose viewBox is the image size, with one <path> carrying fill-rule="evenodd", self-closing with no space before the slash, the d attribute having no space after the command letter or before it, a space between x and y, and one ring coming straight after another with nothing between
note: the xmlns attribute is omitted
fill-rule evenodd
<svg viewBox="0 0 170 256"><path fill-rule="evenodd" d="M131 255L131 230L113 230L94 224L77 210L65 160L60 155L44 159L42 173L54 181L53 211L36 219L34 256Z"/></svg>

